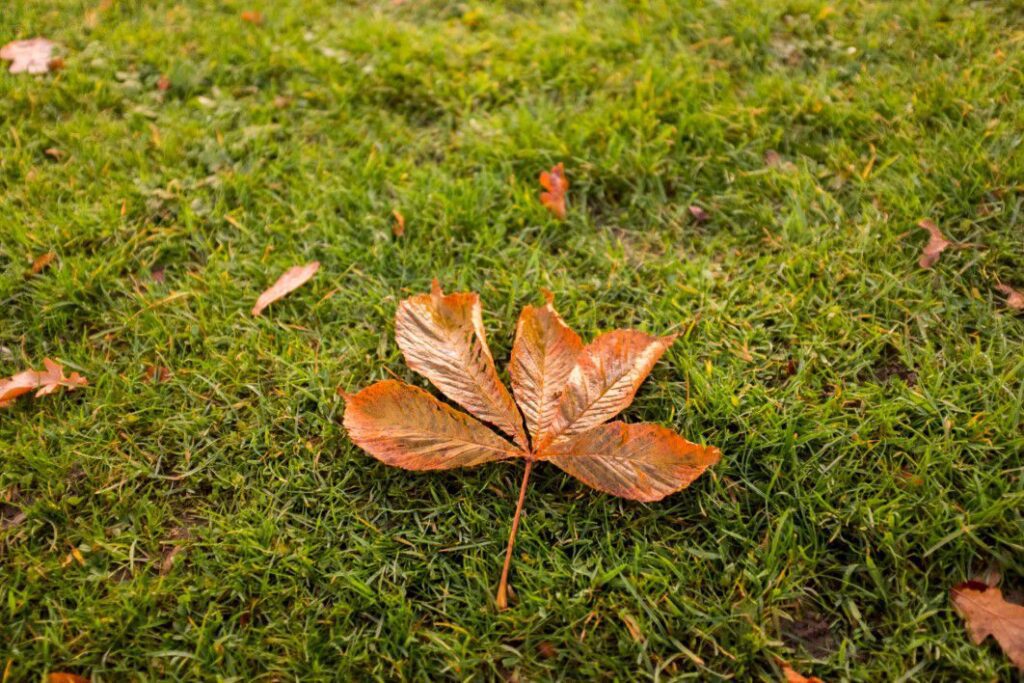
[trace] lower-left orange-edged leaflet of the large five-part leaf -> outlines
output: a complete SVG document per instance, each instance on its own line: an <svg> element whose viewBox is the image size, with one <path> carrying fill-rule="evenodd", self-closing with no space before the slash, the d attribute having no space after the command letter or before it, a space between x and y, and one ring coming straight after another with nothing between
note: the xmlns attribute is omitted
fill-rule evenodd
<svg viewBox="0 0 1024 683"><path fill-rule="evenodd" d="M356 445L407 470L472 467L526 455L465 413L395 380L346 395L344 423Z"/></svg>

